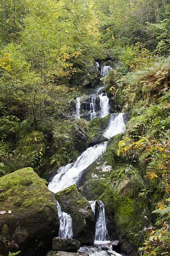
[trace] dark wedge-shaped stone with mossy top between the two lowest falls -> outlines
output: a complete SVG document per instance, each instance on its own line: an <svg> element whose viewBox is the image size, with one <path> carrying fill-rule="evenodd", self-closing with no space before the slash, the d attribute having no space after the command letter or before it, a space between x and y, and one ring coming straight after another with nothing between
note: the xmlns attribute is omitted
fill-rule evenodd
<svg viewBox="0 0 170 256"><path fill-rule="evenodd" d="M88 201L80 195L78 187L72 185L54 195L62 211L72 218L73 238L81 244L94 244L95 218Z"/></svg>

